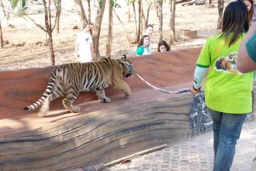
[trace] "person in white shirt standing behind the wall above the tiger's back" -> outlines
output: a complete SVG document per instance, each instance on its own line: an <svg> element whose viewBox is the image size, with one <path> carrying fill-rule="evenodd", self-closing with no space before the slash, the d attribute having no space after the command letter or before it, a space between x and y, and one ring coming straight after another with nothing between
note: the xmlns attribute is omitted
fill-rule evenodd
<svg viewBox="0 0 256 171"><path fill-rule="evenodd" d="M76 37L75 58L80 57L80 62L92 62L94 60L92 36L90 34L90 25L83 24L83 31Z"/></svg>

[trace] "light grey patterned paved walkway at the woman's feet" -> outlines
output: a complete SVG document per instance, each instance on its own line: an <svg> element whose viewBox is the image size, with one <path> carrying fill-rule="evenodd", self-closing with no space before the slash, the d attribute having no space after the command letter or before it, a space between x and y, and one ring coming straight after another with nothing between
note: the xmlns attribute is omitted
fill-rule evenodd
<svg viewBox="0 0 256 171"><path fill-rule="evenodd" d="M230 171L248 171L256 157L256 121L243 125ZM104 171L212 171L213 133L198 135L191 141L131 159L131 162L106 167Z"/></svg>

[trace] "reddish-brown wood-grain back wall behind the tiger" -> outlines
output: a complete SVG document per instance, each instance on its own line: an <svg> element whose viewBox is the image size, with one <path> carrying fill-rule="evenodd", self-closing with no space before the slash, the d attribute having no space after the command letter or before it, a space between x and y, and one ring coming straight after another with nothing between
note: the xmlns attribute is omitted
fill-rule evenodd
<svg viewBox="0 0 256 171"><path fill-rule="evenodd" d="M200 50L201 48L191 48L134 58L128 57L128 59L145 80L157 87L167 87L193 80L196 59ZM42 96L48 84L50 73L54 68L51 66L0 72L0 119L35 113L35 111L24 111L23 107L34 103ZM136 75L130 79L124 78L124 80L130 85L132 92L149 88ZM106 89L106 95L120 93L120 91L113 91L112 87ZM50 108L63 107L62 99L52 101ZM82 92L74 104L95 99L95 92Z"/></svg>

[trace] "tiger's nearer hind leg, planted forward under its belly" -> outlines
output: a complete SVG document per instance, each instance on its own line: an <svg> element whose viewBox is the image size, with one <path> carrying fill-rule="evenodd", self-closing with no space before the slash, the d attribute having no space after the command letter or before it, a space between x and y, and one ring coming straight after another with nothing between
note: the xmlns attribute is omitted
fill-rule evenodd
<svg viewBox="0 0 256 171"><path fill-rule="evenodd" d="M69 90L66 97L62 101L64 107L66 107L66 109L68 109L72 113L78 113L81 110L79 106L73 106L72 105L72 103L74 102L74 100L78 96L79 92L80 91L78 91L78 90L74 90L74 91Z"/></svg>

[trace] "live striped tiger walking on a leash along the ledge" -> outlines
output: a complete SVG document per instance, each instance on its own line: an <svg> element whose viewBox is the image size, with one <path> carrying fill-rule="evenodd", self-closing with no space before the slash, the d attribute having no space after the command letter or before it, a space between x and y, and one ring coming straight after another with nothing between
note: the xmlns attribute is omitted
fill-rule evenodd
<svg viewBox="0 0 256 171"><path fill-rule="evenodd" d="M80 107L72 103L80 91L96 91L98 101L108 103L110 98L106 97L104 88L111 85L129 96L131 89L122 76L129 78L132 74L134 69L126 55L120 59L101 58L97 62L62 64L51 73L42 97L24 110L32 111L41 105L38 116L44 117L49 111L50 101L65 96L64 107L71 113L78 113Z"/></svg>

